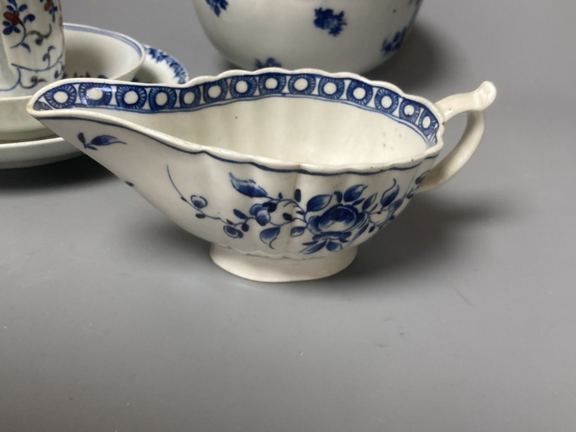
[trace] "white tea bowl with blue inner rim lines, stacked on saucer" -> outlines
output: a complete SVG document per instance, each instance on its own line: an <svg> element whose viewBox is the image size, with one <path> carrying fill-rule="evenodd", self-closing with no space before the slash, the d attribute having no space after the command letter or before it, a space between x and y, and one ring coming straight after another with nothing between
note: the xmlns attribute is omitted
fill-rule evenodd
<svg viewBox="0 0 576 432"><path fill-rule="evenodd" d="M87 25L66 24L64 35L67 40L67 63L65 70L60 70L59 78L85 76L88 71L98 71L96 77L131 81L146 58L142 45L121 33ZM50 130L26 112L30 98L30 95L0 98L0 142L52 135Z"/></svg>

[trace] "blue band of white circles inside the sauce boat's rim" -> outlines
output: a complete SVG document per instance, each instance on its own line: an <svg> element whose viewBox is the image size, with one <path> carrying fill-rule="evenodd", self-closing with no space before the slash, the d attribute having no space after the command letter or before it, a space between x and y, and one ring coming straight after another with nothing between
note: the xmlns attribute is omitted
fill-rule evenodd
<svg viewBox="0 0 576 432"><path fill-rule="evenodd" d="M275 86L270 88L271 85ZM303 89L296 88L296 83L305 79ZM244 83L245 90L238 91L238 84ZM332 93L326 92L326 85L334 84ZM211 97L210 90L217 86L220 90L217 96ZM103 96L98 100L88 97L89 89L103 90ZM358 89L363 93L358 94ZM133 90L138 94L138 101L128 104L124 95ZM67 99L56 100L57 93L66 93ZM158 94L166 94L164 104L157 103ZM190 103L190 96L194 97ZM214 92L213 92L214 94ZM79 96L79 98L77 97ZM112 97L115 96L115 97ZM357 97L361 96L361 97ZM69 82L46 90L37 98L40 111L47 109L66 109L71 107L105 107L142 113L158 111L192 111L210 107L211 105L228 104L237 100L257 100L264 97L305 97L332 101L355 106L367 111L378 112L399 123L407 124L425 139L427 147L434 146L437 141L437 131L441 120L426 104L403 96L385 85L361 81L354 77L332 77L314 73L289 73L270 71L261 74L236 74L223 78L212 78L194 86L180 87L154 84L107 84L105 82ZM384 103L388 97L389 101ZM147 104L146 104L147 102ZM384 106L388 105L388 107ZM411 107L411 108L408 108ZM412 108L414 111L412 111ZM429 119L429 120L426 120ZM425 127L425 123L426 126Z"/></svg>

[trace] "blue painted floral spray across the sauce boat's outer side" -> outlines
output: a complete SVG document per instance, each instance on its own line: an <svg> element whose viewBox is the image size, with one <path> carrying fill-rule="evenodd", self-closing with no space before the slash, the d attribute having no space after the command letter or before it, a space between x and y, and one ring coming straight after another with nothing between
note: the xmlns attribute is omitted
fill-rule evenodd
<svg viewBox="0 0 576 432"><path fill-rule="evenodd" d="M312 196L306 203L302 202L302 191L297 189L292 197L286 198L281 193L271 196L254 180L238 179L229 173L230 184L238 193L254 199L249 209L232 209L232 219L207 211L209 200L200 195L190 198L181 194L166 167L170 183L180 195L180 199L196 211L199 219L209 218L223 223L222 229L227 236L242 238L251 229L260 229L262 242L274 249L274 240L282 229L290 229L291 237L306 234L300 253L310 255L327 249L337 252L356 240L366 231L372 233L381 229L395 218L395 212L404 199L412 198L426 173L418 177L414 187L404 197L399 197L400 187L396 179L388 189L381 193L366 196L367 185L357 184L346 191L333 191L330 194ZM235 220L233 220L235 219Z"/></svg>

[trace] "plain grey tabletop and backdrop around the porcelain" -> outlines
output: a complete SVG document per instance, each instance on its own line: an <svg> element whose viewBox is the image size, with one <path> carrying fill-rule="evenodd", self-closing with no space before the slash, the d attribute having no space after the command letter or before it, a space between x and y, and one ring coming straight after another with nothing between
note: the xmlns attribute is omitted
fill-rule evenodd
<svg viewBox="0 0 576 432"><path fill-rule="evenodd" d="M63 3L191 77L229 68L188 0ZM0 431L576 430L575 15L423 3L369 76L432 100L494 81L484 141L322 281L219 270L89 158L0 171Z"/></svg>

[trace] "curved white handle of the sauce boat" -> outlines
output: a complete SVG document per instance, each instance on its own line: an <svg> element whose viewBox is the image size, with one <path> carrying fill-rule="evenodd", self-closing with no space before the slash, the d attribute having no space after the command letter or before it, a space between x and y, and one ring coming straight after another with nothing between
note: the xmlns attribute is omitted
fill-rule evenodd
<svg viewBox="0 0 576 432"><path fill-rule="evenodd" d="M448 156L442 159L434 168L430 169L424 181L416 192L425 192L440 187L452 179L468 162L484 135L484 109L490 107L496 97L496 88L489 81L471 93L454 94L435 103L436 108L444 118L444 122L454 116L467 112L468 121L466 129L456 147Z"/></svg>

